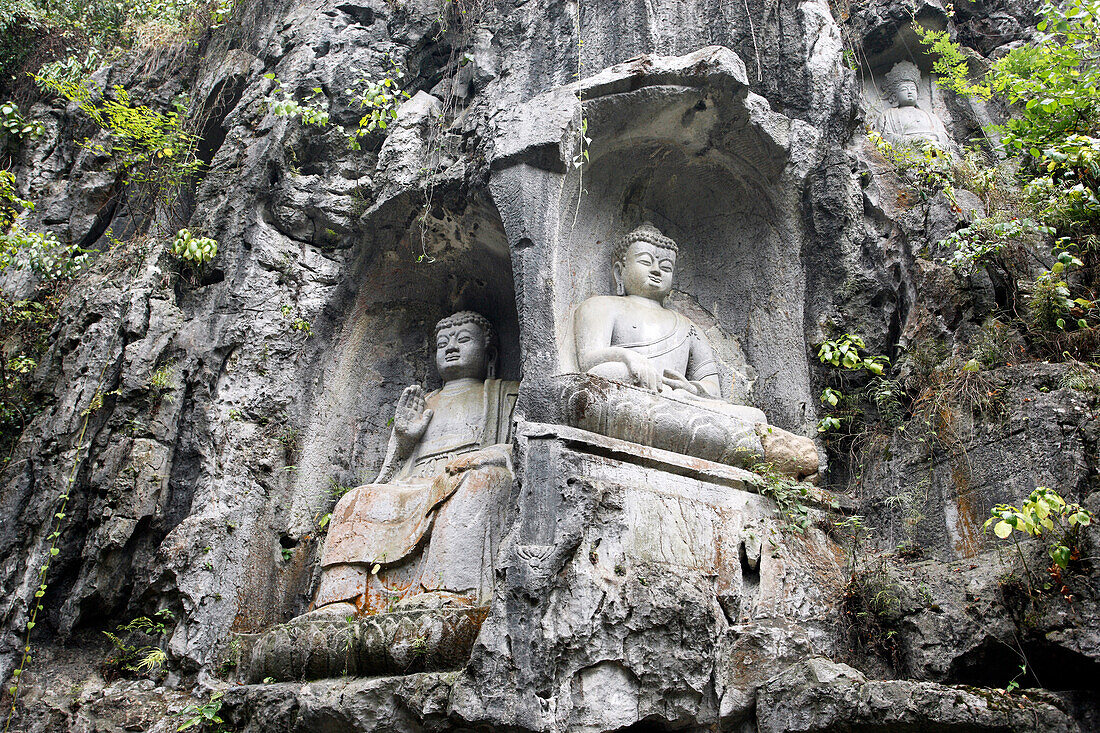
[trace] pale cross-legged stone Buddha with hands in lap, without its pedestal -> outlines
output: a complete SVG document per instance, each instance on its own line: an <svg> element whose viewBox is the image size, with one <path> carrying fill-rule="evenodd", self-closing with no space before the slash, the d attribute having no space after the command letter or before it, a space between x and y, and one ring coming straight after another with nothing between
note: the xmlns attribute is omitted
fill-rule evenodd
<svg viewBox="0 0 1100 733"><path fill-rule="evenodd" d="M591 297L574 314L581 371L718 413L733 426L725 430L729 435L738 425L750 433L755 428L765 461L798 479L816 480L813 440L769 425L756 407L724 400L710 341L688 317L666 306L676 252L676 243L648 222L619 241L612 265L616 294Z"/></svg>

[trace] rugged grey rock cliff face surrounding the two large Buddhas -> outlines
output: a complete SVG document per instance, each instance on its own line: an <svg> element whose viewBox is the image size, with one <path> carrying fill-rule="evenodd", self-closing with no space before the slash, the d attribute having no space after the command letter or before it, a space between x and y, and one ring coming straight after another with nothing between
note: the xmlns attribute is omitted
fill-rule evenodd
<svg viewBox="0 0 1100 733"><path fill-rule="evenodd" d="M37 203L30 225L102 254L64 304L35 375L43 409L0 485L7 678L76 467L16 730L175 730L182 690L237 680L234 635L306 611L333 486L373 478L400 391L433 379L432 324L460 307L491 317L498 375L522 379L497 590L469 661L417 671L414 655L405 675L231 682L222 714L237 730L1100 724L1096 576L1067 581L1071 603L1025 609L1007 579L1015 556L980 530L993 504L1036 485L1100 508L1097 397L1067 386L1069 368L993 370L982 384L1001 407L963 411L949 445L906 431L862 460L833 450L837 506L876 532L851 557L828 500L810 502L814 524L794 533L744 477L585 442L562 425L553 379L575 371L570 308L606 292L607 242L637 212L681 242L672 300L717 344L727 394L751 395L779 427L814 434L827 379L814 349L837 329L893 357L932 342L946 357L977 338L996 283L964 283L928 255L971 215L943 196L904 199L866 140L861 79L892 63L914 14L990 56L1026 39L1033 10L241 2L198 47L95 77L146 102L186 90L204 110L208 168L184 206L219 253L199 276L175 272L168 234L140 233L163 212L128 200L81 149L76 107L36 103L47 133L15 167ZM361 112L342 92L392 62L410 99L351 150L342 127ZM272 114L263 98L277 84L299 98L321 89L332 123ZM1000 113L930 94L957 143ZM642 491L654 481L660 501ZM704 555L730 516L758 549L735 541L727 567ZM924 559L872 557L903 541ZM881 628L853 611L853 564L878 568L872 598L892 599L871 614ZM167 677L105 681L99 632L162 610ZM1026 694L992 689L1016 677Z"/></svg>

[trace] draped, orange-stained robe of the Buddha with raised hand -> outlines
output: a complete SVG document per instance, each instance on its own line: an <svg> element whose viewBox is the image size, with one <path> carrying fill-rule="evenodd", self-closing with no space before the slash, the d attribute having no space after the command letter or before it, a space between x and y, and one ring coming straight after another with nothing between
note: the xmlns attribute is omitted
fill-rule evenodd
<svg viewBox="0 0 1100 733"><path fill-rule="evenodd" d="M427 396L432 418L394 480L358 486L332 511L316 605L355 600L377 612L422 592L487 600L517 394L517 382L486 380Z"/></svg>

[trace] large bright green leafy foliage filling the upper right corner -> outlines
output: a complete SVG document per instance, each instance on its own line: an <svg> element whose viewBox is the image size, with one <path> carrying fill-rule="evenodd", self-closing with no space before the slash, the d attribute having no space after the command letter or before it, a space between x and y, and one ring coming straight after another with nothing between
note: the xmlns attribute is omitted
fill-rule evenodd
<svg viewBox="0 0 1100 733"><path fill-rule="evenodd" d="M1019 200L941 242L950 250L945 261L963 274L999 271L1010 284L1008 310L1023 314L1030 340L1060 359L1090 353L1100 339L1100 0L1047 3L1040 15L1034 42L996 61L977 83L959 64L958 44L944 33L922 35L939 59L943 86L1011 107L997 131L1019 162L1022 189ZM1027 258L1038 258L1044 243L1053 264L1035 276Z"/></svg>

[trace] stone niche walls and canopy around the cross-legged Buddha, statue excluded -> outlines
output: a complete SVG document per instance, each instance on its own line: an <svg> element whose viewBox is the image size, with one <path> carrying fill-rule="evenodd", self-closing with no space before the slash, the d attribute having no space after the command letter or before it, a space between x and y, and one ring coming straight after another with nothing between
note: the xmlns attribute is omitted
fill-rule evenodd
<svg viewBox="0 0 1100 733"><path fill-rule="evenodd" d="M592 140L580 168L578 94ZM817 136L749 91L717 46L619 64L499 116L491 187L514 250L526 417L584 427L561 400L561 375L584 371L575 310L613 293L616 243L649 221L679 243L669 305L713 348L722 398L812 434L801 196ZM682 429L707 407L672 408L692 412Z"/></svg>

